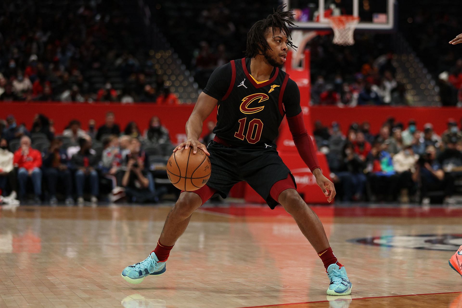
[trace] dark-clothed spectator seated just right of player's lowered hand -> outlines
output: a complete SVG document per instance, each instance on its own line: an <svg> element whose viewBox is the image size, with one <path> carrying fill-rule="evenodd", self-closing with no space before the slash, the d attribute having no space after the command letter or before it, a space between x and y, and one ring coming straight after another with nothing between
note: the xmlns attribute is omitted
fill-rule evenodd
<svg viewBox="0 0 462 308"><path fill-rule="evenodd" d="M343 188L343 200L358 201L363 198L366 176L364 162L355 153L354 145L347 143L342 152L340 172L336 173Z"/></svg>

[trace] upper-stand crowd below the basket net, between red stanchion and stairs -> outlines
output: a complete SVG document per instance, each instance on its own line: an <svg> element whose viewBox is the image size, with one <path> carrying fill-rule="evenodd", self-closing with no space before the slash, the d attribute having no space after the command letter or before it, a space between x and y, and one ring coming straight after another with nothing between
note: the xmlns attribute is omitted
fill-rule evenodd
<svg viewBox="0 0 462 308"><path fill-rule="evenodd" d="M332 44L332 36L316 36L311 56L311 103L314 105L411 105L406 86L395 79L389 36L364 34L353 46Z"/></svg>

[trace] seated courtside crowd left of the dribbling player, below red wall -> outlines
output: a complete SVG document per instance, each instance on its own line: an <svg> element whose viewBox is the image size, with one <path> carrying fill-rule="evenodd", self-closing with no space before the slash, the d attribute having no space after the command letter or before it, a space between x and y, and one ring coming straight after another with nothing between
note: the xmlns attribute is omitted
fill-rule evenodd
<svg viewBox="0 0 462 308"><path fill-rule="evenodd" d="M36 115L30 130L13 115L1 120L0 203L32 199L55 205L60 198L66 205L84 205L87 197L96 205L106 195L111 202L158 202L168 187L156 186L155 178L166 179L174 148L160 119L152 117L143 133L136 122L122 131L108 112L102 126L90 120L88 127L85 131L72 120L56 136L45 115Z"/></svg>

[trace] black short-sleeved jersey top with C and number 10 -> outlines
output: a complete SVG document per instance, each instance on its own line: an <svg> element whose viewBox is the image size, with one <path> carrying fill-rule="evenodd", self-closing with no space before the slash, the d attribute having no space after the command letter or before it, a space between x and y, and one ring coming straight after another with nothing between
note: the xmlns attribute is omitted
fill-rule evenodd
<svg viewBox="0 0 462 308"><path fill-rule="evenodd" d="M284 115L301 112L300 92L289 74L275 67L269 80L258 83L250 73L249 58L232 60L213 72L204 89L218 99L213 133L233 146L272 144Z"/></svg>

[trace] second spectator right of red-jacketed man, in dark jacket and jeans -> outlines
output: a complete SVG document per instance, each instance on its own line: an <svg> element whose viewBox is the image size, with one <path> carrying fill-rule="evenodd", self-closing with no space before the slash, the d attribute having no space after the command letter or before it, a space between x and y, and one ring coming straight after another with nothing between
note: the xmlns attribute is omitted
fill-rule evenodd
<svg viewBox="0 0 462 308"><path fill-rule="evenodd" d="M98 173L95 168L98 164L96 155L91 154L91 140L81 138L79 139L80 150L72 157L72 163L75 172L75 190L77 193L77 205L84 205L84 187L85 181L90 182L91 197L90 202L92 205L97 205L99 194Z"/></svg>

